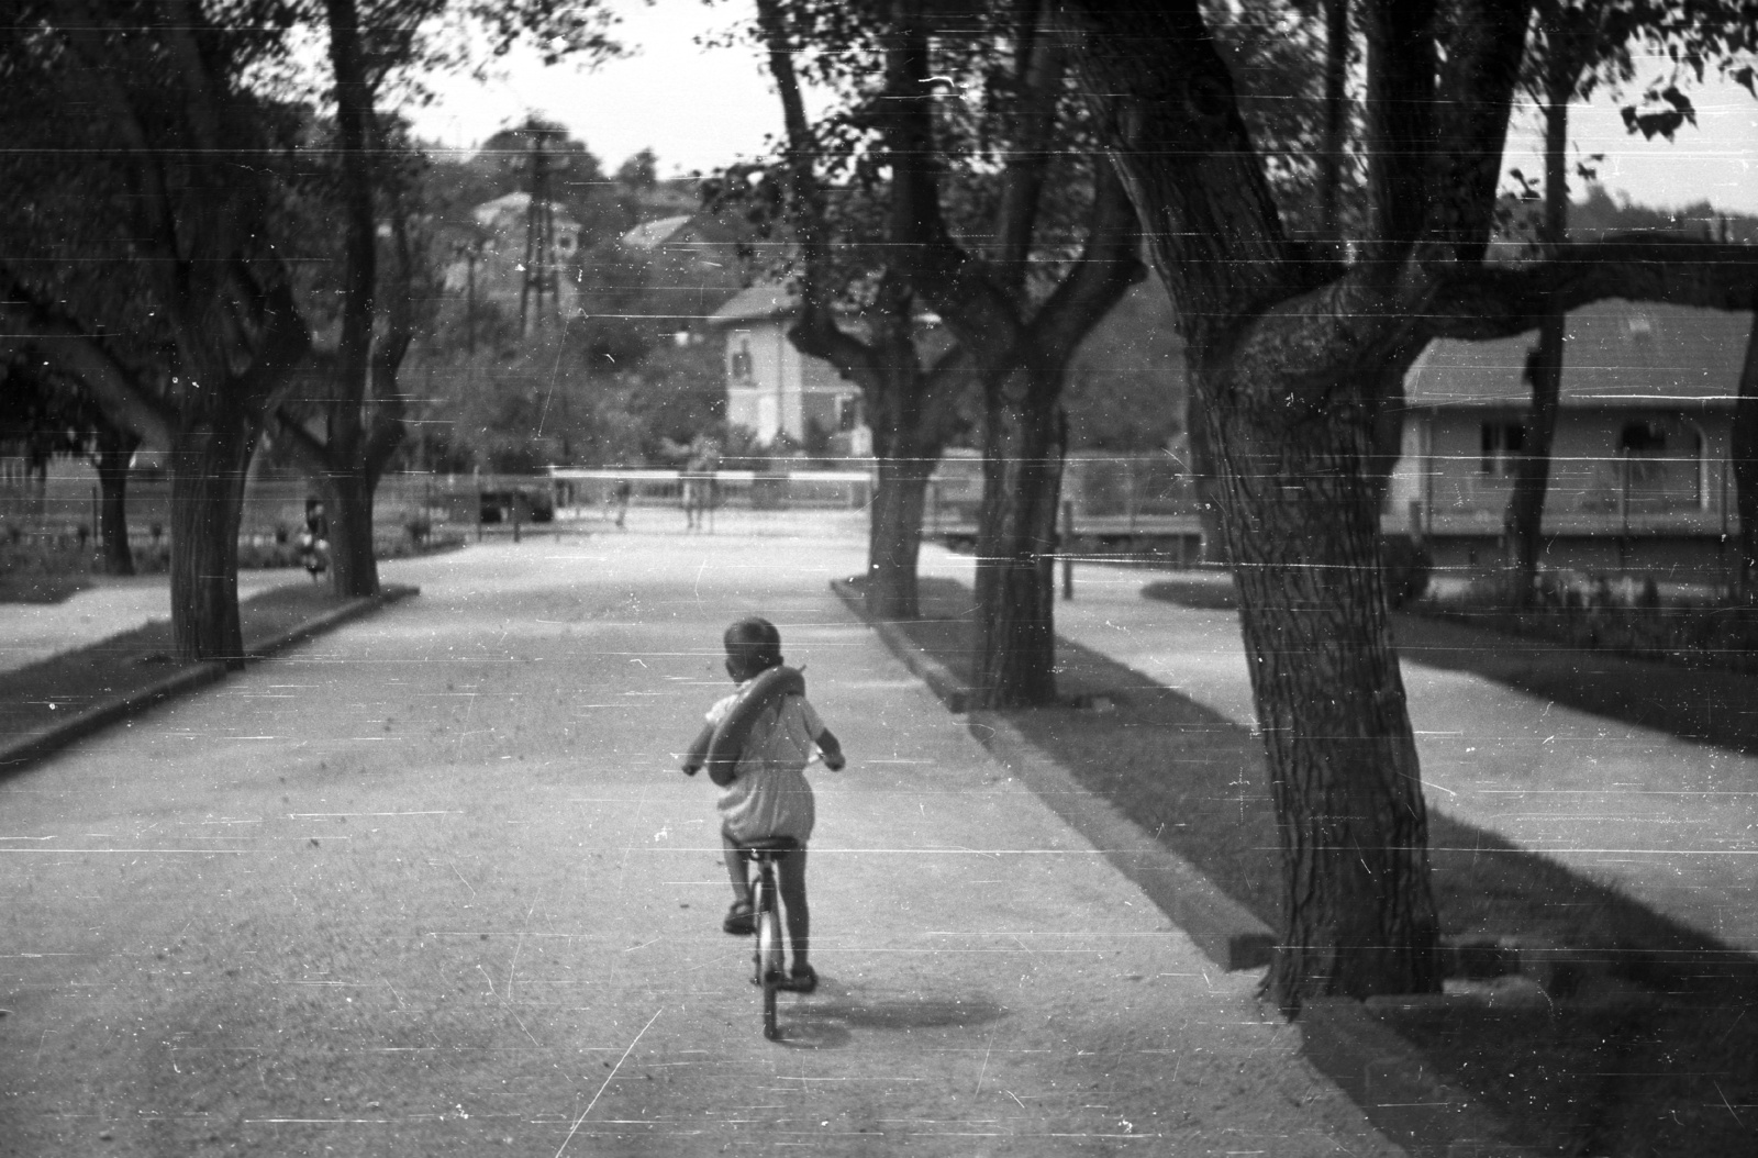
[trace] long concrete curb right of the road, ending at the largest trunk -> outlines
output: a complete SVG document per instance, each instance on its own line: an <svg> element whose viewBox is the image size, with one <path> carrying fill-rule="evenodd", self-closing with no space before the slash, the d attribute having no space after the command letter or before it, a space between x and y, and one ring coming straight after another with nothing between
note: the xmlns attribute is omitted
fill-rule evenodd
<svg viewBox="0 0 1758 1158"><path fill-rule="evenodd" d="M941 698L948 712L967 713L970 689L946 664L918 650L897 624L867 619L867 606L853 583L832 580L830 587ZM1111 801L1090 793L1002 715L970 712L965 727L990 756L1025 780L1039 800L1136 882L1204 956L1225 970L1269 965L1276 944L1269 926L1217 889L1190 861L1143 831Z"/></svg>

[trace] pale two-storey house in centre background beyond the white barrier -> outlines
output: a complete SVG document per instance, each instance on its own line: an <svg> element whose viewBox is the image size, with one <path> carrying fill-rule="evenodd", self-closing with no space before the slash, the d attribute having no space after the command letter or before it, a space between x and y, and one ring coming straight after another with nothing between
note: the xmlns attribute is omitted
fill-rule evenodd
<svg viewBox="0 0 1758 1158"><path fill-rule="evenodd" d="M823 358L788 341L800 299L784 285L742 290L708 318L726 334L726 422L768 441L786 434L807 441L816 425L842 453L872 453L861 394Z"/></svg>

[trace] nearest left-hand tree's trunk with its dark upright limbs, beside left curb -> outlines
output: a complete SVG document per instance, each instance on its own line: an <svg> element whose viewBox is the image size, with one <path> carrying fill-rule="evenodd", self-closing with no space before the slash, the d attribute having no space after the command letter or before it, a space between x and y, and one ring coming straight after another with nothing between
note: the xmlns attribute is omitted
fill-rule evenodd
<svg viewBox="0 0 1758 1158"><path fill-rule="evenodd" d="M116 381L100 402L137 432L171 427L174 648L179 659L237 664L244 469L264 415L309 344L287 271L264 244L265 177L234 163L257 144L246 130L255 119L236 77L214 67L199 5L67 0L58 11L69 16L54 28L67 49L62 81L102 114L130 167L135 242L176 351L169 390L146 397L137 383Z"/></svg>

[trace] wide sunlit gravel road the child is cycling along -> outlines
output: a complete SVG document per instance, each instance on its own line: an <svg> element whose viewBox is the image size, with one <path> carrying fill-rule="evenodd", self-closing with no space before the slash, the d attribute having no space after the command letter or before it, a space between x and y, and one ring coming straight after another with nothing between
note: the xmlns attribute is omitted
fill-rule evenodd
<svg viewBox="0 0 1758 1158"><path fill-rule="evenodd" d="M0 1153L1396 1153L833 599L861 557L387 564L422 596L0 782ZM744 612L851 756L779 1044L675 771Z"/></svg>

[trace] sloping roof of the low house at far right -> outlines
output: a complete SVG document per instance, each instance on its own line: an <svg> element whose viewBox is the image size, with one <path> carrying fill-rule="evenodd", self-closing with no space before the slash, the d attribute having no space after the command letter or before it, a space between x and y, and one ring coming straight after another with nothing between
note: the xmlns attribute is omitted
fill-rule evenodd
<svg viewBox="0 0 1758 1158"><path fill-rule="evenodd" d="M1609 299L1568 315L1568 408L1726 402L1740 381L1751 313ZM1496 341L1433 341L1405 374L1410 406L1522 406L1536 332Z"/></svg>

